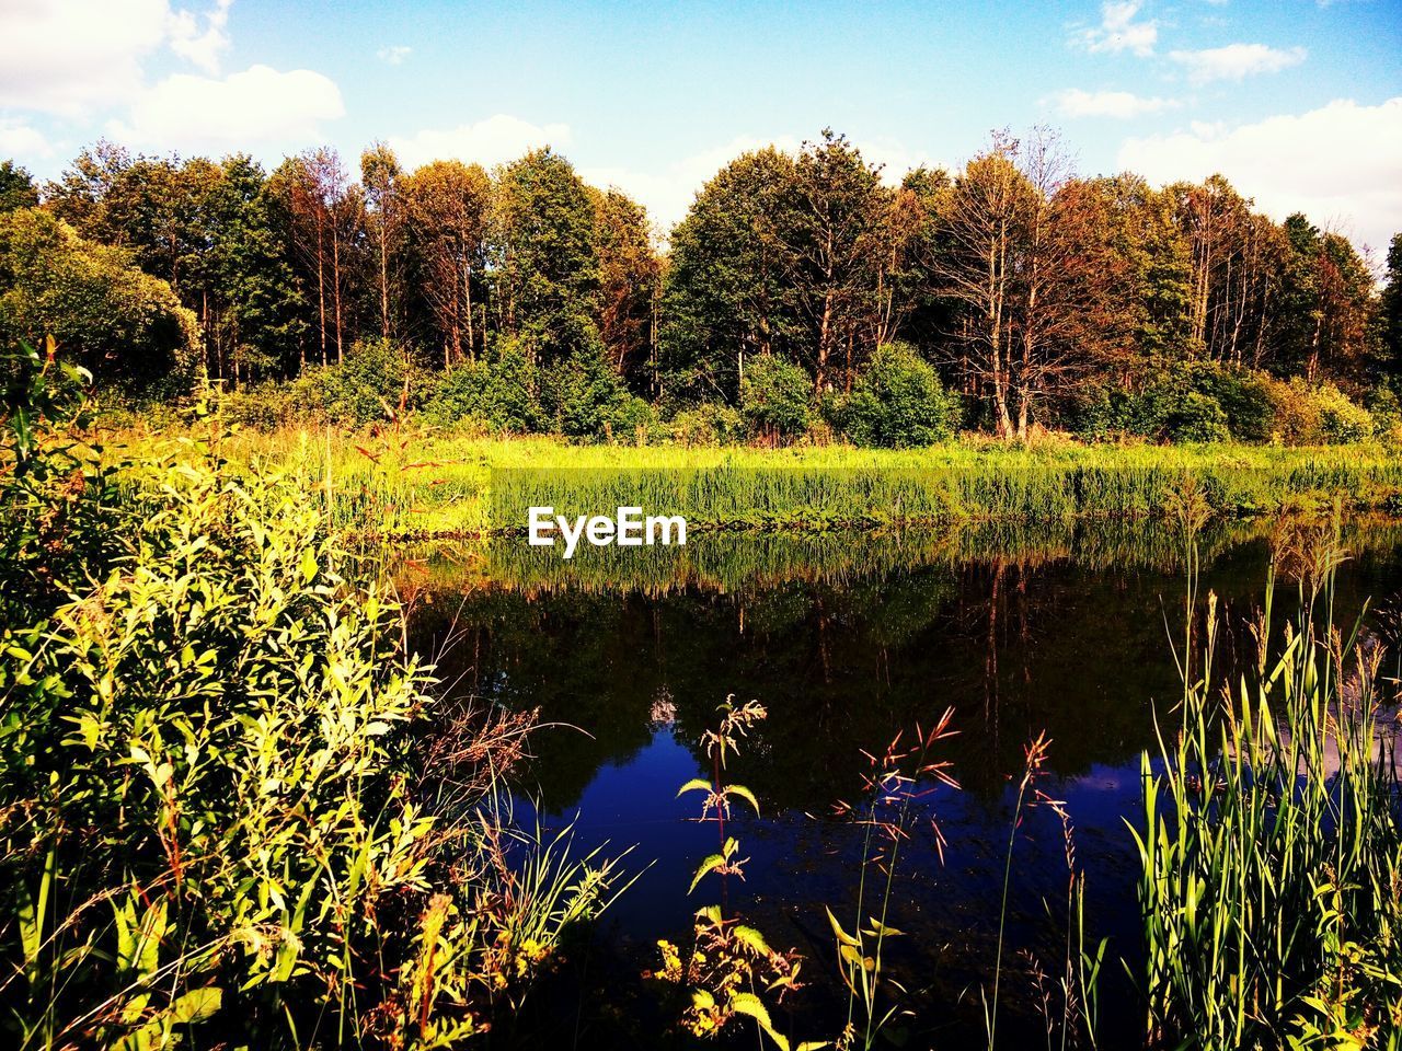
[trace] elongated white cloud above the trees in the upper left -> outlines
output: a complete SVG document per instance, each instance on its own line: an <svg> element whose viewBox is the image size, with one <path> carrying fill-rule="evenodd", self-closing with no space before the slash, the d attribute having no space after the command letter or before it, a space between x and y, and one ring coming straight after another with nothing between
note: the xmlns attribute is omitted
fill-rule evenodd
<svg viewBox="0 0 1402 1051"><path fill-rule="evenodd" d="M322 121L343 114L341 90L320 73L251 66L222 78L167 77L132 104L128 121L108 130L161 150L248 149L317 139Z"/></svg>

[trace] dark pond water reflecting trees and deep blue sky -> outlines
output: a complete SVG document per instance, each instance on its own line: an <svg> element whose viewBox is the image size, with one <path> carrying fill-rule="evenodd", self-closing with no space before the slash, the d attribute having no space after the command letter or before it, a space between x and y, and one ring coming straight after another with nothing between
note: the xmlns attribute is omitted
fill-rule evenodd
<svg viewBox="0 0 1402 1051"><path fill-rule="evenodd" d="M1253 523L1202 538L1202 591L1216 591L1227 617L1225 664L1255 652L1246 625L1272 552L1309 548L1311 534ZM1388 635L1402 605L1402 530L1354 524L1343 544L1336 617L1352 621L1371 596L1381 611L1368 631ZM658 937L686 942L693 911L719 886L686 893L716 828L693 820L701 796L679 800L676 790L708 775L702 734L716 703L735 695L757 699L768 717L728 769L763 817L736 811L728 825L749 863L726 897L771 944L808 957L810 984L785 1005L798 1036L831 1034L845 1017L823 905L854 912L862 831L834 804L861 802L868 754L953 708L958 736L935 758L952 764L960 789L920 803L887 916L906 932L887 943L887 966L917 1012L907 1045L983 1045L980 994L993 975L1016 782L1025 746L1043 733L1052 746L1037 783L1070 814L1087 935L1110 939L1102 1045L1136 1045L1140 1008L1119 963L1137 970L1137 859L1124 823L1137 821L1155 706L1166 715L1180 694L1169 633L1182 635L1182 547L1176 531L1143 524L732 534L693 537L652 561L614 549L562 566L499 547L436 552L407 570L416 646L454 691L538 708L543 723L559 724L536 736L519 786L538 800L543 823L575 821L580 848L634 846L634 869L651 862L594 935L589 974L547 994L558 1017L537 1037L659 1045L666 1020L638 975L658 966ZM1277 584L1277 621L1297 594L1294 583ZM1056 981L1067 880L1061 818L1028 810L1014 835L1007 1047L1044 1038L1032 961ZM753 1038L746 1030L742 1043Z"/></svg>

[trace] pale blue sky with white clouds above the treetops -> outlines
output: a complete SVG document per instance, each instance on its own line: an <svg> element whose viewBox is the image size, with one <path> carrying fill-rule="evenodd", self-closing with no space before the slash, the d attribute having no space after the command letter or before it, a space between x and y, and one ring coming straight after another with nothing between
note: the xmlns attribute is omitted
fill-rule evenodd
<svg viewBox="0 0 1402 1051"><path fill-rule="evenodd" d="M1220 171L1385 252L1402 0L0 0L0 158L39 178L100 137L269 165L550 144L665 233L756 146L833 128L896 181L1033 125L1081 174Z"/></svg>

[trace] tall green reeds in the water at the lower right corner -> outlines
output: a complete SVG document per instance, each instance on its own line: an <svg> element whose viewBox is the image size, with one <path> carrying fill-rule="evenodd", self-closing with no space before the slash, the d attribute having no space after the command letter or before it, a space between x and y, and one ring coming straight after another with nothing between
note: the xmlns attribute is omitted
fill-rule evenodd
<svg viewBox="0 0 1402 1051"><path fill-rule="evenodd" d="M1189 510L1189 541L1202 521ZM1196 570L1176 727L1143 758L1147 1037L1155 1047L1398 1047L1402 824L1381 649L1333 621L1342 558L1305 552L1277 633L1274 572L1252 667L1217 664Z"/></svg>

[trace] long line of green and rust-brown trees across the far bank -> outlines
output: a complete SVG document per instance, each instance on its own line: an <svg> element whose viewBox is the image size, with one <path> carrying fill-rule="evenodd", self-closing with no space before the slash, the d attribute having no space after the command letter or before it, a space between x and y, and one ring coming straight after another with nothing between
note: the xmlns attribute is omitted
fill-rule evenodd
<svg viewBox="0 0 1402 1051"><path fill-rule="evenodd" d="M116 380L241 387L377 341L444 373L603 369L669 412L770 376L851 398L900 345L1002 436L1175 370L1356 399L1402 377L1399 238L1380 284L1339 231L1276 223L1220 175L1081 177L1046 129L883 175L830 130L746 153L663 244L548 147L494 171L407 171L384 144L356 168L318 149L265 171L98 143L43 186L0 167L0 325Z"/></svg>

